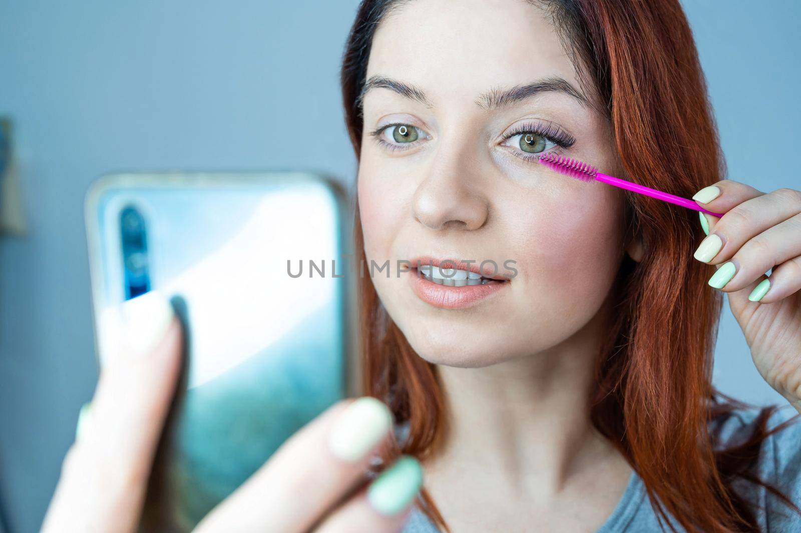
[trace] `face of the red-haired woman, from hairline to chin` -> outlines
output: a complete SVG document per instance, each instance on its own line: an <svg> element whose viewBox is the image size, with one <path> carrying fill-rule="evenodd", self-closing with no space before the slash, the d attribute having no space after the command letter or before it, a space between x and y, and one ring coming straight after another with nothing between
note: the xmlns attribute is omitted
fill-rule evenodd
<svg viewBox="0 0 801 533"><path fill-rule="evenodd" d="M410 2L376 31L367 79L365 272L376 263L372 282L415 351L482 367L582 331L622 259L623 194L536 161L555 151L610 174L616 164L610 126L582 101L594 96L541 11L522 0ZM481 273L505 280L435 268L440 284L405 271L421 258L470 261L455 265L464 271L486 261ZM389 275L377 271L386 261Z"/></svg>

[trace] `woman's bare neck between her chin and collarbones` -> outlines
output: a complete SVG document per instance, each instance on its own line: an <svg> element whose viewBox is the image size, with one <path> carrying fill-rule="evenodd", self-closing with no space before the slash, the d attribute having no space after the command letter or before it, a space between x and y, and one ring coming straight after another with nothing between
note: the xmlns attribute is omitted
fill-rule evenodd
<svg viewBox="0 0 801 533"><path fill-rule="evenodd" d="M447 438L427 475L500 476L501 486L530 501L625 467L589 417L602 317L534 355L481 368L438 365Z"/></svg>

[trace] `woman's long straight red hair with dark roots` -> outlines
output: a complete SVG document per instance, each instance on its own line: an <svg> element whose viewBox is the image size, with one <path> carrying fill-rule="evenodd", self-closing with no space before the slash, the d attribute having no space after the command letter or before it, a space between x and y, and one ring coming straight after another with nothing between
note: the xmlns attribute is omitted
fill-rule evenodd
<svg viewBox="0 0 801 533"><path fill-rule="evenodd" d="M358 158L360 94L372 35L404 0L363 0L344 51L345 119ZM689 197L726 174L723 153L694 39L678 0L529 0L545 9L577 63L582 84L598 94L610 120L622 168L643 185ZM736 448L714 447L710 421L750 407L716 391L711 369L723 295L709 287L708 266L689 258L700 227L693 210L627 193L629 231L642 235L641 262L622 262L612 294L617 313L595 365L588 409L646 487L670 526L687 531L759 531L755 513L732 482L749 479L793 503L750 473L776 407L765 407L757 430ZM364 242L356 203L356 250ZM364 388L409 422L405 453L425 460L447 435L436 366L422 359L381 305L372 280L360 279ZM450 531L425 487L424 511ZM673 527L670 526L672 530Z"/></svg>

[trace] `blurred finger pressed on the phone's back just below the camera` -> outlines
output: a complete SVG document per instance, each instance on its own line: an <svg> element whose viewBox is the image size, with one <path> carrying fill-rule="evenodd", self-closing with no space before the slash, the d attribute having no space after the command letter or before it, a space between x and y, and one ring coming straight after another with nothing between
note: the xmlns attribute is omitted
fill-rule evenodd
<svg viewBox="0 0 801 533"><path fill-rule="evenodd" d="M134 531L179 373L180 327L155 292L115 310L88 421L70 447L43 531ZM85 417L86 418L86 417Z"/></svg>

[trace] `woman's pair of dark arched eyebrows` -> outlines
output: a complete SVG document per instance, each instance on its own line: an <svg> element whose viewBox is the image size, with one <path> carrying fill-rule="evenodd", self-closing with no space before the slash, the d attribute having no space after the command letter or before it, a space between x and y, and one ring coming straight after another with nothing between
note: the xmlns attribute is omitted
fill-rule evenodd
<svg viewBox="0 0 801 533"><path fill-rule="evenodd" d="M358 98L356 98L356 105L361 108L364 101L364 96L368 91L383 87L392 90L405 98L409 98L416 102L420 102L426 107L433 107L433 104L426 96L425 91L410 83L400 82L392 78L386 78L380 75L372 75L364 83L364 88L361 90ZM569 94L576 98L582 106L589 106L590 101L582 92L576 89L565 78L552 76L550 78L542 78L525 85L516 85L509 89L493 88L485 93L481 93L477 100L476 105L485 110L494 110L501 107L511 106L517 102L521 102L526 98L530 98L536 94L545 92L559 92Z"/></svg>

